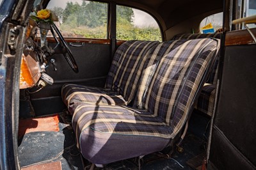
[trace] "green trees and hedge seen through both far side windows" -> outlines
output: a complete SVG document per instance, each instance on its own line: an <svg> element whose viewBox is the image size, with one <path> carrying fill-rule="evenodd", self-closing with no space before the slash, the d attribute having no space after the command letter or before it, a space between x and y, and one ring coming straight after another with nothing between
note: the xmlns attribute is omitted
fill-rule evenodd
<svg viewBox="0 0 256 170"><path fill-rule="evenodd" d="M63 36L84 38L107 38L108 6L106 3L90 1L80 5L67 3L66 8L54 8L58 15ZM132 8L117 6L116 38L118 40L159 40L159 28L136 27L133 25Z"/></svg>

